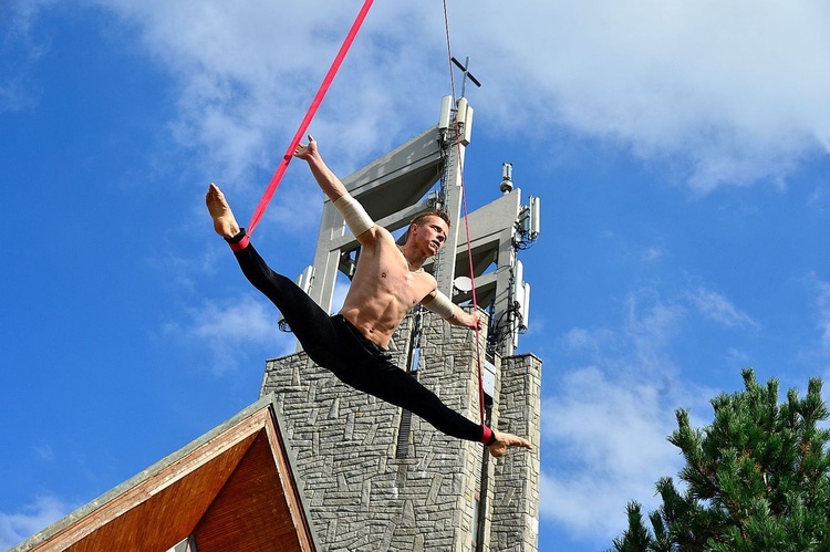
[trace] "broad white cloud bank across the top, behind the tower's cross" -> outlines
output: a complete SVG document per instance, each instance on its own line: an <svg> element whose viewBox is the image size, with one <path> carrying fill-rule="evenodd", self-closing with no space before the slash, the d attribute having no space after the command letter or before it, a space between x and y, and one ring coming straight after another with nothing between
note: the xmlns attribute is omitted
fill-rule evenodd
<svg viewBox="0 0 830 552"><path fill-rule="evenodd" d="M264 0L87 3L118 14L175 77L175 135L204 153L206 170L239 185L251 169L276 166L357 10ZM488 113L483 132L521 132L546 149L566 129L568 140L599 139L665 162L698 191L781 184L830 148L823 0L764 9L749 0L470 8L453 6L450 35L455 55L470 55L485 84L471 93ZM432 3L374 6L313 125L339 168L433 123L449 84L442 15Z"/></svg>

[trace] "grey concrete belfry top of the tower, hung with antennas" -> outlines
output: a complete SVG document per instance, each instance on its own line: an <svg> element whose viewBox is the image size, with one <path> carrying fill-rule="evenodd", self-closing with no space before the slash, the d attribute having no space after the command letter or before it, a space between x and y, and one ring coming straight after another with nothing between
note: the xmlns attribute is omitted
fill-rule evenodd
<svg viewBox="0 0 830 552"><path fill-rule="evenodd" d="M445 98L446 102L446 98ZM464 112L464 115L461 115ZM461 98L454 122L428 128L395 150L343 178L349 192L378 225L394 232L425 210L446 211L453 227L442 252L425 264L438 289L456 303L470 299L458 289L457 277L473 278L479 305L489 310L490 353L513 354L518 334L527 329L530 285L521 274L517 250L538 237L538 198L521 205L521 190L504 196L469 213L473 274L463 205L464 156L471 136L473 108ZM495 189L495 186L494 186ZM536 209L533 209L536 207ZM536 212L536 216L533 213ZM323 204L314 262L301 278L301 287L323 309L332 309L339 273L354 273L360 244L330 200Z"/></svg>

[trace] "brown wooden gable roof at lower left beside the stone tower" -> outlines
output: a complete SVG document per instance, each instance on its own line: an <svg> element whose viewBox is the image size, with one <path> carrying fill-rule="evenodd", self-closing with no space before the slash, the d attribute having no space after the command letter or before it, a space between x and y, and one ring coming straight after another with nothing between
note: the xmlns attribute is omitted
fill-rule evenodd
<svg viewBox="0 0 830 552"><path fill-rule="evenodd" d="M12 551L319 549L267 396Z"/></svg>

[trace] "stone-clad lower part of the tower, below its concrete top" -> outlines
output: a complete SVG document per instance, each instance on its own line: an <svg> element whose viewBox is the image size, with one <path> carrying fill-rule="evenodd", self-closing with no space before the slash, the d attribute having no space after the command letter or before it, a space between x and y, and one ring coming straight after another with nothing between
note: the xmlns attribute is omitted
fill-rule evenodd
<svg viewBox="0 0 830 552"><path fill-rule="evenodd" d="M411 315L395 334L402 366L413 326ZM478 419L477 351L486 336L476 344L474 333L433 314L424 315L422 332L413 377ZM497 356L496 368L490 424L538 446L541 361ZM537 550L538 450L494 460L481 445L341 384L302 352L268 362L262 394L269 393L325 550Z"/></svg>

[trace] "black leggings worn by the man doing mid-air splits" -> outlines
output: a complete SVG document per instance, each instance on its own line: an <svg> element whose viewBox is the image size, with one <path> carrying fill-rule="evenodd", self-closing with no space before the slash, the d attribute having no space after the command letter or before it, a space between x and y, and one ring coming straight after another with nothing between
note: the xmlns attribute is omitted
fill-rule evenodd
<svg viewBox="0 0 830 552"><path fill-rule="evenodd" d="M294 282L271 270L252 244L234 254L248 281L282 312L314 363L355 389L411 410L442 433L470 441L483 439L483 426L448 408L395 366L388 351L366 339L344 316L329 316Z"/></svg>

